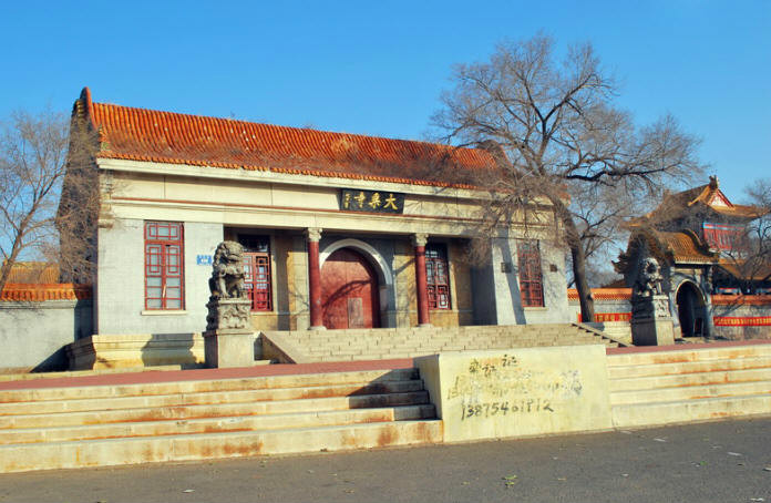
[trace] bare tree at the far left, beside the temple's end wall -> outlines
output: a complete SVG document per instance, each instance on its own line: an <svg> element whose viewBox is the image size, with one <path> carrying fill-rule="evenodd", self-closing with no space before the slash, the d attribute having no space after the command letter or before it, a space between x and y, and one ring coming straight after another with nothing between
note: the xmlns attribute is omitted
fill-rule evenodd
<svg viewBox="0 0 771 503"><path fill-rule="evenodd" d="M88 232L82 215L95 215L99 207L99 184L91 168L94 138L95 132L75 115L68 120L51 111L14 112L2 123L0 291L14 264L24 258L56 263L60 275L70 279L73 269L86 273L85 280L90 279L83 261L88 261L93 233ZM76 217L74 211L56 211L62 189L70 207L76 208ZM62 249L74 258L63 258Z"/></svg>

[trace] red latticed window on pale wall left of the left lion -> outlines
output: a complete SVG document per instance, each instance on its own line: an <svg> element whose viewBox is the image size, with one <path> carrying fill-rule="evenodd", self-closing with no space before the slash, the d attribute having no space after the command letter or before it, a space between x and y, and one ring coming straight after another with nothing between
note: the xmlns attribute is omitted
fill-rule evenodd
<svg viewBox="0 0 771 503"><path fill-rule="evenodd" d="M145 222L145 309L184 308L184 228Z"/></svg>

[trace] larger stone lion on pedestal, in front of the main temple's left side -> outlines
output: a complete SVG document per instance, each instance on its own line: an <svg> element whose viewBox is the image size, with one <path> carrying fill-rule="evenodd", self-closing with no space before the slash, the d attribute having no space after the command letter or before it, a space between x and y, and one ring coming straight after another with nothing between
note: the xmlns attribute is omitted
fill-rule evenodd
<svg viewBox="0 0 771 503"><path fill-rule="evenodd" d="M244 290L244 248L236 242L220 243L212 266L204 332L206 367L251 367L255 335L250 328L251 302Z"/></svg>

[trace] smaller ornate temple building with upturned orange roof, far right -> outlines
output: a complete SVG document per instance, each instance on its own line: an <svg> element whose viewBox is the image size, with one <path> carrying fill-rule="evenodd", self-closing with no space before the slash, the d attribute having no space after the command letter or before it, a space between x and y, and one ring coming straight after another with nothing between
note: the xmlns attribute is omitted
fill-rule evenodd
<svg viewBox="0 0 771 503"><path fill-rule="evenodd" d="M707 185L668 194L656 209L630 222L629 245L616 270L631 287L640 257L656 258L676 332L683 337L712 337L721 331L716 325L732 318L767 327L771 318L757 315L769 314L762 306L769 304L763 297L771 292L771 266L749 253L747 240L748 225L763 215L762 208L731 203L710 176ZM748 299L761 312L748 317Z"/></svg>

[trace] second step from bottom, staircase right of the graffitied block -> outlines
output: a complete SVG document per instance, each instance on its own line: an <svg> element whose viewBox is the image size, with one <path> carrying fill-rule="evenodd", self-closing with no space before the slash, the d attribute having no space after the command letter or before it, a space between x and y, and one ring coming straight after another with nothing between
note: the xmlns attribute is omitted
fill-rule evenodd
<svg viewBox="0 0 771 503"><path fill-rule="evenodd" d="M654 403L659 401L687 401L703 398L739 397L763 393L771 394L771 380L614 391L610 393L610 406Z"/></svg>

